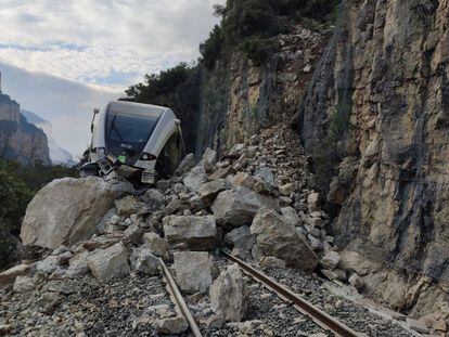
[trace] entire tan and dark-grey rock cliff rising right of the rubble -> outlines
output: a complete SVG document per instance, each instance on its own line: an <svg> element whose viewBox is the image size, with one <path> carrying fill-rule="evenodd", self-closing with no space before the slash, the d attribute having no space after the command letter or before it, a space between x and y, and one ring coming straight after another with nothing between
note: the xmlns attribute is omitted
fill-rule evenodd
<svg viewBox="0 0 449 337"><path fill-rule="evenodd" d="M239 52L202 79L196 152L297 128L365 291L448 316L449 2L343 1L333 34L302 26L261 65Z"/></svg>

